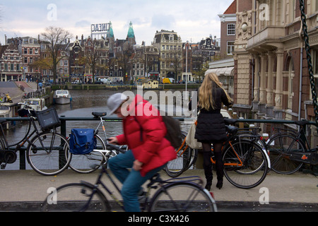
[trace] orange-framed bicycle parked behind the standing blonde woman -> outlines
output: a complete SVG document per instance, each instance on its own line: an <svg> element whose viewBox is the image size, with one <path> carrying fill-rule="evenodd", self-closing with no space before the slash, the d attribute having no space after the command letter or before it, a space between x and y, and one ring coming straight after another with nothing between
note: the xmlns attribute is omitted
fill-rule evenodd
<svg viewBox="0 0 318 226"><path fill-rule="evenodd" d="M225 123L235 124L236 119L225 119ZM224 175L228 181L241 189L251 189L264 181L271 168L269 155L264 145L259 142L260 136L249 133L238 133L237 126L226 126L228 139L223 143ZM212 148L213 151L213 148ZM184 142L177 150L177 160L168 163L170 177L177 177L194 164L197 150L192 150ZM181 160L182 159L182 160ZM215 164L213 156L211 161ZM172 167L175 165L175 168ZM172 172L172 173L171 173Z"/></svg>

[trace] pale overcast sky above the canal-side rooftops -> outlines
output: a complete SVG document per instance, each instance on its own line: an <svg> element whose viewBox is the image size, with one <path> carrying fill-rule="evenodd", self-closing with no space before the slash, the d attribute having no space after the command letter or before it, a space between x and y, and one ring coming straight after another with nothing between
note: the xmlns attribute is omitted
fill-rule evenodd
<svg viewBox="0 0 318 226"><path fill-rule="evenodd" d="M158 30L175 30L182 42L220 37L218 14L233 0L3 0L0 3L0 42L4 35L37 37L49 26L88 37L90 25L112 22L115 39L126 39L133 23L137 44L151 44Z"/></svg>

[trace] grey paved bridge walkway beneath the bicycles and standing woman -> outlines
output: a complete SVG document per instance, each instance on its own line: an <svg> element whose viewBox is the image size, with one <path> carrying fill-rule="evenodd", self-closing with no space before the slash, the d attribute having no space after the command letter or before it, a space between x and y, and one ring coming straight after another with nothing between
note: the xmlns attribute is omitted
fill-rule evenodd
<svg viewBox="0 0 318 226"><path fill-rule="evenodd" d="M55 177L45 177L33 170L0 171L0 211L24 210L37 211L39 203L47 196L47 189L71 182L94 183L98 172L78 174L71 169ZM163 179L170 177L161 172ZM199 175L204 178L203 169L189 169L182 177ZM107 183L105 177L104 181ZM107 183L108 184L108 183ZM263 189L265 188L265 189ZM261 205L260 197L268 189L269 204ZM226 179L222 189L212 189L219 210L298 210L318 211L318 177L297 172L292 175L269 172L264 182L254 189L238 189ZM114 189L113 189L114 191ZM34 204L35 202L35 204ZM33 203L32 205L29 205ZM287 209L286 209L287 208Z"/></svg>

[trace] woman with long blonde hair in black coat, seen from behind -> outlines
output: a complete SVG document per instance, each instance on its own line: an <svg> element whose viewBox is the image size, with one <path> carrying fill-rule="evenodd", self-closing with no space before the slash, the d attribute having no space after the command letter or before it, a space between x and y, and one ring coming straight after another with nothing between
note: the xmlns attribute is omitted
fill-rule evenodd
<svg viewBox="0 0 318 226"><path fill-rule="evenodd" d="M226 140L225 123L220 109L223 104L232 105L228 93L222 88L215 73L208 73L199 88L198 107L200 114L196 126L195 138L202 143L204 155L204 174L206 176L206 189L211 189L213 174L211 162L211 143L213 143L214 156L216 157L216 187L223 186L223 160L222 143Z"/></svg>

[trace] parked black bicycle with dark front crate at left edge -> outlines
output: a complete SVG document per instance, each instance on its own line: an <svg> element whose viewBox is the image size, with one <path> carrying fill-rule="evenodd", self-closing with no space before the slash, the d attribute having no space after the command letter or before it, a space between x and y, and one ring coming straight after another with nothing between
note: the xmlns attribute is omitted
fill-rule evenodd
<svg viewBox="0 0 318 226"><path fill-rule="evenodd" d="M18 103L18 105L24 105ZM63 172L68 167L71 158L69 158L69 143L66 138L57 133L59 126L59 117L54 108L42 112L33 111L28 105L19 109L20 117L28 117L28 130L25 136L18 143L9 144L5 136L2 124L6 119L0 119L0 164L1 169L5 169L7 164L16 162L17 151L23 150L25 144L26 157L30 166L35 172L50 176ZM18 119L17 119L18 120ZM42 132L37 129L35 124L37 120ZM33 131L31 131L33 127Z"/></svg>

